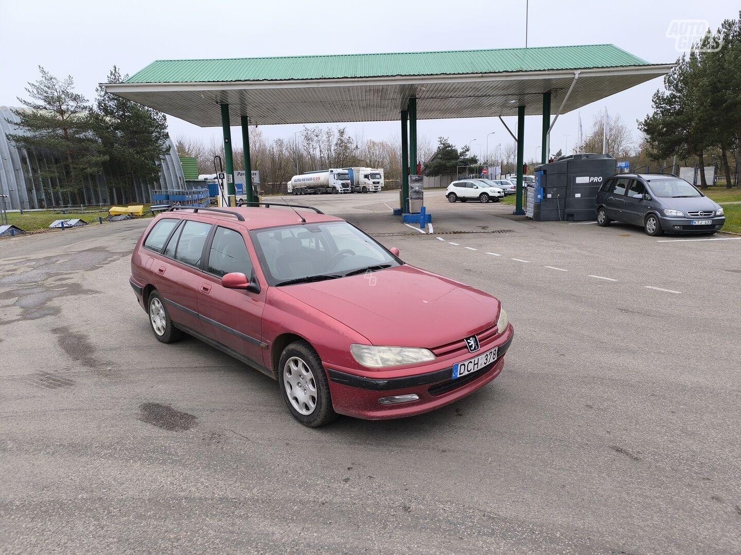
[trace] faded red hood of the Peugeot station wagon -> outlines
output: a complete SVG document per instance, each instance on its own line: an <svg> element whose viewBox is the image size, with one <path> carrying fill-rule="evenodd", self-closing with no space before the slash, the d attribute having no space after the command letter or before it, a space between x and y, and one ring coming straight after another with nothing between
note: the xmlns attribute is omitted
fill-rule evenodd
<svg viewBox="0 0 741 555"><path fill-rule="evenodd" d="M373 345L432 349L482 332L499 316L495 297L408 264L281 290Z"/></svg>

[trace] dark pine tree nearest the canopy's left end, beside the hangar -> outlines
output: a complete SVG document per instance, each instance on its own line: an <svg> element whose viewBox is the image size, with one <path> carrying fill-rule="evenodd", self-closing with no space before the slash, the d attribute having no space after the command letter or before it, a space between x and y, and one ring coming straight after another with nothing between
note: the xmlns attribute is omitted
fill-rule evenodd
<svg viewBox="0 0 741 555"><path fill-rule="evenodd" d="M108 83L122 83L118 67L108 73ZM133 195L137 182L159 181L162 157L167 154L167 120L165 114L120 96L111 95L101 85L97 89L96 132L107 155L113 176L109 186L119 186L124 194Z"/></svg>

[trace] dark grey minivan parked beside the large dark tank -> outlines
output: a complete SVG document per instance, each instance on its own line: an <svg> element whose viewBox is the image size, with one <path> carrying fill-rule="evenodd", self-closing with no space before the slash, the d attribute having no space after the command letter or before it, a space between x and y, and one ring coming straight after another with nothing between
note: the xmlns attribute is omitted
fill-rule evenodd
<svg viewBox="0 0 741 555"><path fill-rule="evenodd" d="M600 226L635 223L648 235L715 233L725 223L719 204L669 174L614 175L597 192L595 209Z"/></svg>

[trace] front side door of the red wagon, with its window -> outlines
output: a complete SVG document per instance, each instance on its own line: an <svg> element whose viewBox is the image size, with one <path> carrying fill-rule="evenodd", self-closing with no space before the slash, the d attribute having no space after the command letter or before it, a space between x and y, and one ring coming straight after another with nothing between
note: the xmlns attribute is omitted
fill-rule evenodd
<svg viewBox="0 0 741 555"><path fill-rule="evenodd" d="M216 226L213 232L199 283L198 306L204 333L262 367L262 309L268 288L253 293L222 286L222 277L232 272L254 279L245 238L226 225Z"/></svg>

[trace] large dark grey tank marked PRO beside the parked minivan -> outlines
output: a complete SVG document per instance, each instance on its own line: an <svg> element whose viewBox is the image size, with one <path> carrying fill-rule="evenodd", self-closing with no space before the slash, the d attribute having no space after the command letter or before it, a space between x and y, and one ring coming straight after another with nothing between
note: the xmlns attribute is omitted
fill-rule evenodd
<svg viewBox="0 0 741 555"><path fill-rule="evenodd" d="M599 187L617 172L608 154L574 154L535 168L532 187L534 221L594 220Z"/></svg>

